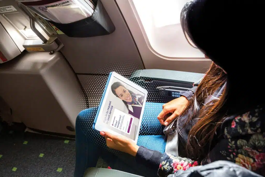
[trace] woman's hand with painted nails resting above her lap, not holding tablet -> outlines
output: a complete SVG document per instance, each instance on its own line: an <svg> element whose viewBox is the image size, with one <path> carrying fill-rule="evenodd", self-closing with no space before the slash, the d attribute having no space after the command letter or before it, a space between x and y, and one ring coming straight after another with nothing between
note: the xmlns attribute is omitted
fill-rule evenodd
<svg viewBox="0 0 265 177"><path fill-rule="evenodd" d="M157 119L162 125L167 126L182 113L182 111L187 106L188 102L189 100L186 97L181 96L164 104L162 106L163 110L157 116ZM172 115L170 115L168 118L166 118L166 120L164 120L165 116L169 113L172 113Z"/></svg>

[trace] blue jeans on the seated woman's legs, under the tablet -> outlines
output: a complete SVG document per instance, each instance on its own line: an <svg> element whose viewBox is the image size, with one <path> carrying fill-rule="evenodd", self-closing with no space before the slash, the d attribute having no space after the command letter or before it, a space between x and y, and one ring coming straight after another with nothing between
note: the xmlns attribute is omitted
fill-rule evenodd
<svg viewBox="0 0 265 177"><path fill-rule="evenodd" d="M162 103L147 102L144 108L142 124L137 145L148 149L165 152L166 137L164 126L157 120L162 110ZM109 149L104 137L92 128L97 107L81 111L76 119L76 167L74 176L83 176L88 167L95 167L99 156L112 169L126 171L141 176L157 176L157 171L146 170L144 164L136 162L135 157L129 154Z"/></svg>

